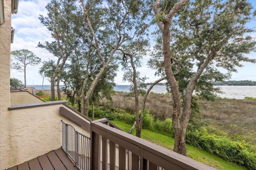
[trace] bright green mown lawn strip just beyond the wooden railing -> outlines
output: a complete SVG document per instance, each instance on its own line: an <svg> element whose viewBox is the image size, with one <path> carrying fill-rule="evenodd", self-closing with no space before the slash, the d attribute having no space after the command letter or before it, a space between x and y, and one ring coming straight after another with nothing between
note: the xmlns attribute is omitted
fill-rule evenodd
<svg viewBox="0 0 256 170"><path fill-rule="evenodd" d="M132 127L132 125L129 125L127 123L123 123L120 121L112 121L112 122L125 132L128 132ZM132 132L132 135L135 135L135 130ZM174 146L173 138L159 134L159 133L154 133L146 129L142 129L141 137L142 139L151 141L152 143L155 143L157 145L160 145L170 150L172 150ZM219 170L246 170L245 167L242 167L235 163L224 160L223 158L220 158L215 154L211 154L209 152L206 152L194 146L187 145L187 155L188 157L194 160L197 160L199 162L202 162L204 164L207 164Z"/></svg>

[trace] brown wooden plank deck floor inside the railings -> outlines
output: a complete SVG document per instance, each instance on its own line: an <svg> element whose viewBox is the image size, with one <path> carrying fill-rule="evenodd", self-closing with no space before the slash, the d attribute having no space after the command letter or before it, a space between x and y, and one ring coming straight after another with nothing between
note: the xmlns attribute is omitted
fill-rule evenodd
<svg viewBox="0 0 256 170"><path fill-rule="evenodd" d="M78 170L78 168L60 148L8 170Z"/></svg>

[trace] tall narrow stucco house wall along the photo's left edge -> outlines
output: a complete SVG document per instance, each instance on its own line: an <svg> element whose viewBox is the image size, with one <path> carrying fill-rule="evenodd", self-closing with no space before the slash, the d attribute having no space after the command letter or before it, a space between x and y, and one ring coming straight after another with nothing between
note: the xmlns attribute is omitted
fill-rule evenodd
<svg viewBox="0 0 256 170"><path fill-rule="evenodd" d="M4 169L5 143L10 136L4 133L8 107L10 107L10 43L11 43L11 0L4 0L4 22L0 25L0 169Z"/></svg>

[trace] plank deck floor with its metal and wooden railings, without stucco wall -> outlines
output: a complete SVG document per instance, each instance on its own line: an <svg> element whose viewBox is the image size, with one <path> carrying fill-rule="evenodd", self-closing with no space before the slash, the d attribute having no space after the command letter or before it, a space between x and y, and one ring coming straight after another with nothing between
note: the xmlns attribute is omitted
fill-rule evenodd
<svg viewBox="0 0 256 170"><path fill-rule="evenodd" d="M90 124L90 137L62 121L62 147L8 170L214 170L123 132L108 119Z"/></svg>

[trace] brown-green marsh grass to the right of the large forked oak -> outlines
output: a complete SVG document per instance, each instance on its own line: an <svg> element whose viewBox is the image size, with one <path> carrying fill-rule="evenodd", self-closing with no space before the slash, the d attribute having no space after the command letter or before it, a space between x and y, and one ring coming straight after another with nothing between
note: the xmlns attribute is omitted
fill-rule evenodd
<svg viewBox="0 0 256 170"><path fill-rule="evenodd" d="M245 140L246 143L256 146L255 100L199 100L199 104L209 132L227 136L234 141Z"/></svg>

